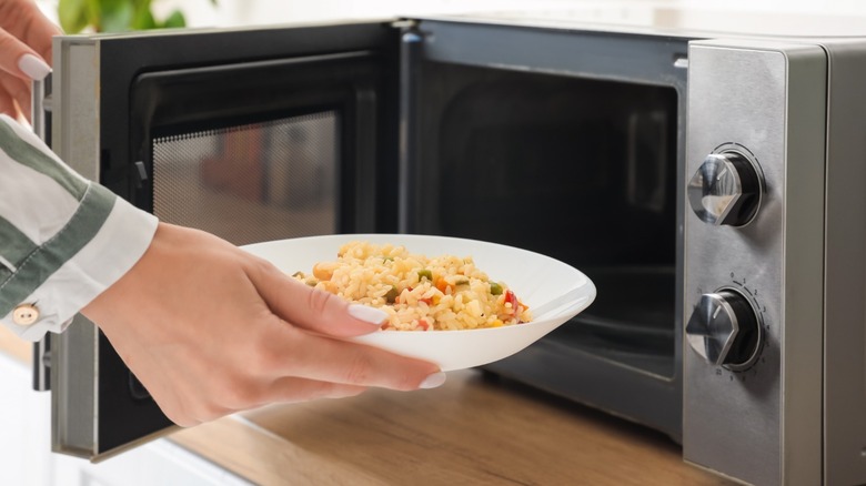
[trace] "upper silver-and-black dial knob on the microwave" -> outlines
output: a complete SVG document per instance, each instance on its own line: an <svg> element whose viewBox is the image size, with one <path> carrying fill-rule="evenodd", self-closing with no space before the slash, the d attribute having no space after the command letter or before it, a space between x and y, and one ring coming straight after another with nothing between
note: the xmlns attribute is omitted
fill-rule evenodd
<svg viewBox="0 0 866 486"><path fill-rule="evenodd" d="M701 221L743 226L757 214L764 181L737 152L711 153L688 182L688 202Z"/></svg>

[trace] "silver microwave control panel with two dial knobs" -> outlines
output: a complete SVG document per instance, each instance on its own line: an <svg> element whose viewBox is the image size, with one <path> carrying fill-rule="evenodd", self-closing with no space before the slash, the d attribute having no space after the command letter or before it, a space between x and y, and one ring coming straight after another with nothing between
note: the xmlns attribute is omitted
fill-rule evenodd
<svg viewBox="0 0 866 486"><path fill-rule="evenodd" d="M689 43L683 454L748 484L822 482L826 69L816 45Z"/></svg>

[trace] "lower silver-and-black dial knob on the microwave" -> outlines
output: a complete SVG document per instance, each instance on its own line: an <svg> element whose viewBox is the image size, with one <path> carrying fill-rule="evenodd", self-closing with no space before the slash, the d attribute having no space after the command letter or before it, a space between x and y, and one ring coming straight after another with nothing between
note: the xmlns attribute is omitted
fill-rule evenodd
<svg viewBox="0 0 866 486"><path fill-rule="evenodd" d="M752 366L761 350L761 320L748 300L732 288L702 295L685 331L698 355L728 369Z"/></svg>

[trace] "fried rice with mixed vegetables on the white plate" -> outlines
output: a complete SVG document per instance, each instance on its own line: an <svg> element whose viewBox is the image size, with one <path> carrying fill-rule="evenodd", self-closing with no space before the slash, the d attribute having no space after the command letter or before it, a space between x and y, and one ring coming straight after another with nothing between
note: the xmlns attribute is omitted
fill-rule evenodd
<svg viewBox="0 0 866 486"><path fill-rule="evenodd" d="M293 277L389 314L395 331L456 331L515 325L532 313L504 282L491 281L471 256L427 257L405 246L353 241L336 260Z"/></svg>

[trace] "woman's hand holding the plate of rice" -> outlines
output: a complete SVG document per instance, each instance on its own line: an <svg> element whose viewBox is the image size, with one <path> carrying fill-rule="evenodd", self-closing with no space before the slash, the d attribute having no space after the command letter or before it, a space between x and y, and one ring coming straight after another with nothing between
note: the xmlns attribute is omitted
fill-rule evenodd
<svg viewBox="0 0 866 486"><path fill-rule="evenodd" d="M441 385L434 364L340 337L385 313L350 305L208 233L160 223L151 246L82 313L174 423L369 386Z"/></svg>

